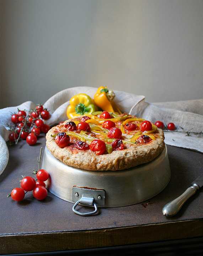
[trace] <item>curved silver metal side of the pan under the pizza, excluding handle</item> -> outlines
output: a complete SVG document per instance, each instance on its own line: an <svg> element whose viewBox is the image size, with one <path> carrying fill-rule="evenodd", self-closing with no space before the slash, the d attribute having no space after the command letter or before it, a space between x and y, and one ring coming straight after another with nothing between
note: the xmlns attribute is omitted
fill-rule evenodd
<svg viewBox="0 0 203 256"><path fill-rule="evenodd" d="M42 168L50 178L48 188L55 196L72 201L72 188L89 187L106 191L104 207L128 206L159 194L169 183L171 171L167 148L148 164L122 171L87 171L65 165L45 147Z"/></svg>

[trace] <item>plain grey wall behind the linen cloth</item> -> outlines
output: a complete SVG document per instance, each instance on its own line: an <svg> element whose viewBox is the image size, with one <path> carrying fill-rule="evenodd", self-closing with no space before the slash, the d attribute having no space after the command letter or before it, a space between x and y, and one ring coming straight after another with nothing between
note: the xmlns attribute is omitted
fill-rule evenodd
<svg viewBox="0 0 203 256"><path fill-rule="evenodd" d="M1 107L73 86L203 97L202 0L1 0Z"/></svg>

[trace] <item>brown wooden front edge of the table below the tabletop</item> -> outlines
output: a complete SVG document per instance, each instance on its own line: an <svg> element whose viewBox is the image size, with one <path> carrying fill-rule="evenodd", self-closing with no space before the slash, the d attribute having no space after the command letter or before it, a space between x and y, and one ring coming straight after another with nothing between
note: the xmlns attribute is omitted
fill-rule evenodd
<svg viewBox="0 0 203 256"><path fill-rule="evenodd" d="M203 236L203 218L84 231L0 235L0 254L90 249Z"/></svg>

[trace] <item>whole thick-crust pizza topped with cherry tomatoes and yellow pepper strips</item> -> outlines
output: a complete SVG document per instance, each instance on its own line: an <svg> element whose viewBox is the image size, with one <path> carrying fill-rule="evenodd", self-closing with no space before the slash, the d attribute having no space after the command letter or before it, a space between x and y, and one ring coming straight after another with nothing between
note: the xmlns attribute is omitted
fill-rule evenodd
<svg viewBox="0 0 203 256"><path fill-rule="evenodd" d="M46 145L66 165L92 171L124 170L152 161L164 150L164 132L127 113L97 111L66 120L46 135Z"/></svg>

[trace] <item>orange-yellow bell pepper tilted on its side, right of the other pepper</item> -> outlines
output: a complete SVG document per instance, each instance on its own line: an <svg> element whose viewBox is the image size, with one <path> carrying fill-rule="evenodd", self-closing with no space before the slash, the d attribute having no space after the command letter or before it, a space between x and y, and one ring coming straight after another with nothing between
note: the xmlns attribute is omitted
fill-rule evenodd
<svg viewBox="0 0 203 256"><path fill-rule="evenodd" d="M94 96L94 101L98 107L108 112L122 112L113 102L115 94L112 90L109 90L106 86L100 86Z"/></svg>

